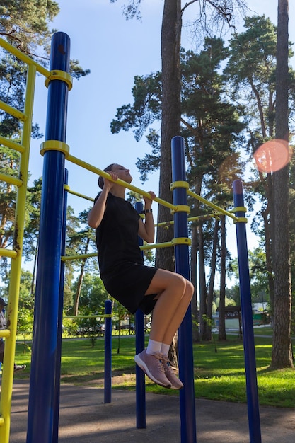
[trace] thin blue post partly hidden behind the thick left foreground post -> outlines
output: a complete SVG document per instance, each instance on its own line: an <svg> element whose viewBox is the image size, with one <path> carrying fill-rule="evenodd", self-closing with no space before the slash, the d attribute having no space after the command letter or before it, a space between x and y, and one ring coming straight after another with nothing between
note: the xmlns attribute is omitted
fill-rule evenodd
<svg viewBox="0 0 295 443"><path fill-rule="evenodd" d="M68 171L64 170L64 184L68 184ZM62 255L66 255L66 210L68 193L64 191L64 211L62 217ZM60 398L60 375L62 364L62 314L64 309L64 267L62 261L59 279L59 308L57 322L57 358L55 361L54 399L53 399L53 432L52 443L59 441L59 398Z"/></svg>

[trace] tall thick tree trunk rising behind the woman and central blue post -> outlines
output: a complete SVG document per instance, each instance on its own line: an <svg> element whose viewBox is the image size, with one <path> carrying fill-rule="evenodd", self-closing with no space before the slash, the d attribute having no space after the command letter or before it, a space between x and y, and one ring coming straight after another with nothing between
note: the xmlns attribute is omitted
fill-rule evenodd
<svg viewBox="0 0 295 443"><path fill-rule="evenodd" d="M162 59L162 123L161 123L161 168L159 195L163 200L172 202L170 192L171 139L180 135L180 36L181 1L165 0L161 30ZM158 222L171 219L170 209L159 205ZM158 229L157 243L171 241L173 228ZM156 267L174 270L173 253L170 248L156 250Z"/></svg>

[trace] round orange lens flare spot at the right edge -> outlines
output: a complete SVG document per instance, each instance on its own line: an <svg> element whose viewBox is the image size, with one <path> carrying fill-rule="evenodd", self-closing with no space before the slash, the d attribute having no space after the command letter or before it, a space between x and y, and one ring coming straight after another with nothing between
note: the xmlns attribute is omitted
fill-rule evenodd
<svg viewBox="0 0 295 443"><path fill-rule="evenodd" d="M274 139L259 146L254 153L258 171L272 173L286 166L292 156L291 147L286 140Z"/></svg>

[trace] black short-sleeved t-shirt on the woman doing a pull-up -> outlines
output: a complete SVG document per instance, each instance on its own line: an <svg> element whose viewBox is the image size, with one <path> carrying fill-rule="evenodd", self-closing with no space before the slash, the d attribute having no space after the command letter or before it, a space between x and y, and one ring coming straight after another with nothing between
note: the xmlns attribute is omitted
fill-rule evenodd
<svg viewBox="0 0 295 443"><path fill-rule="evenodd" d="M134 207L109 192L103 220L96 228L100 275L122 262L143 263L138 245L138 224L139 214Z"/></svg>

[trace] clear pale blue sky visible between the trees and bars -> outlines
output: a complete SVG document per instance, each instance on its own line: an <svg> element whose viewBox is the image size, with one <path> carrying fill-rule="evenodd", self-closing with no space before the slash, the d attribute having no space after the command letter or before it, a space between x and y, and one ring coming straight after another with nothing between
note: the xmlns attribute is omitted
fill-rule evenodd
<svg viewBox="0 0 295 443"><path fill-rule="evenodd" d="M66 142L73 156L79 157L98 168L109 163L121 163L132 171L133 184L144 190L158 192L158 174L154 173L147 183L141 184L135 163L143 157L149 146L145 139L136 142L132 131L111 134L110 122L117 108L132 103L134 76L150 74L161 70L161 20L163 0L142 1L142 21L127 21L122 16L122 4L118 0L57 0L61 9L52 23L52 28L62 30L71 38L71 58L79 59L81 66L91 69L91 74L76 81L69 92ZM185 2L183 2L185 4ZM289 1L289 39L295 42L295 6ZM82 5L82 6L81 6ZM277 0L249 0L253 13L269 16L277 23ZM183 41L186 50L195 49L195 41L187 27L198 8L198 2L187 8L183 17ZM250 15L250 13L249 13ZM239 26L242 29L243 21ZM47 89L43 79L37 80L34 105L34 121L40 124L45 133ZM158 125L158 130L160 126ZM30 155L31 180L42 175L42 157L39 154L39 141L33 141ZM83 172L71 163L69 185L72 190L84 195L95 196L97 177ZM161 196L160 196L161 197ZM89 202L69 196L69 205L75 213L89 206ZM154 205L156 206L156 205ZM155 207L156 209L156 207ZM235 227L231 224L228 239L236 253ZM255 244L248 226L248 245Z"/></svg>

